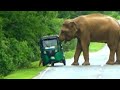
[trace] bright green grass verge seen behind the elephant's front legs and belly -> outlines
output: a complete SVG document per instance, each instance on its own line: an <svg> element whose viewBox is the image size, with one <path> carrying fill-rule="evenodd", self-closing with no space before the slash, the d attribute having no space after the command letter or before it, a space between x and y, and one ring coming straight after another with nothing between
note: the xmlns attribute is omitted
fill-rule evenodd
<svg viewBox="0 0 120 90"><path fill-rule="evenodd" d="M104 47L105 43L96 43L96 42L92 42L89 46L89 51L90 52L96 52L99 51L100 49L102 49ZM74 56L75 50L72 51L68 51L65 52L65 58L69 59L72 58Z"/></svg>

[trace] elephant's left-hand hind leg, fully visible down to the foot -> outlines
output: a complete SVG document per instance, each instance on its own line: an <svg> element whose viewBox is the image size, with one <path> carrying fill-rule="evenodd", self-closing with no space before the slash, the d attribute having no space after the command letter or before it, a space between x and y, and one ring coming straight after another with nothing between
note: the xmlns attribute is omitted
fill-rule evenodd
<svg viewBox="0 0 120 90"><path fill-rule="evenodd" d="M109 45L108 47L110 48L110 55L109 55L109 60L107 61L106 64L113 65L114 64L114 56L115 56L115 51L116 51L116 44Z"/></svg>

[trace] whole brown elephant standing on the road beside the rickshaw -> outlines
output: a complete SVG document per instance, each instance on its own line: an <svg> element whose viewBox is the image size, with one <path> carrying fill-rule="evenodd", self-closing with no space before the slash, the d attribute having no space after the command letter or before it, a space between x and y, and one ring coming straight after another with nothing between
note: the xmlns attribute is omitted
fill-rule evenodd
<svg viewBox="0 0 120 90"><path fill-rule="evenodd" d="M74 38L77 39L77 45L74 62L71 65L79 65L78 59L81 52L84 56L82 65L90 65L90 42L106 43L110 49L106 64L120 64L120 25L115 18L101 13L93 13L66 19L61 26L59 40L67 42Z"/></svg>

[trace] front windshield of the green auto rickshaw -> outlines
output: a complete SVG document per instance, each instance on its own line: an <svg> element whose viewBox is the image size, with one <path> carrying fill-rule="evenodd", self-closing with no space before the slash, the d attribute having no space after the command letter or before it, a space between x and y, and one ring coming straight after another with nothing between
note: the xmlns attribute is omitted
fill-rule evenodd
<svg viewBox="0 0 120 90"><path fill-rule="evenodd" d="M45 49L55 49L57 47L57 40L56 39L44 40L43 47Z"/></svg>

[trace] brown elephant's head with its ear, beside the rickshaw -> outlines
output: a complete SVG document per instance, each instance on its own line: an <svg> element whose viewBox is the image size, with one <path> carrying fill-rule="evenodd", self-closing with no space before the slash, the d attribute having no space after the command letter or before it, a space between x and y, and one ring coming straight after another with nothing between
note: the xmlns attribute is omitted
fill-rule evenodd
<svg viewBox="0 0 120 90"><path fill-rule="evenodd" d="M77 25L71 19L65 20L61 32L59 34L60 41L70 41L75 38L77 32Z"/></svg>

